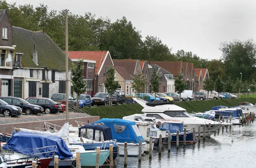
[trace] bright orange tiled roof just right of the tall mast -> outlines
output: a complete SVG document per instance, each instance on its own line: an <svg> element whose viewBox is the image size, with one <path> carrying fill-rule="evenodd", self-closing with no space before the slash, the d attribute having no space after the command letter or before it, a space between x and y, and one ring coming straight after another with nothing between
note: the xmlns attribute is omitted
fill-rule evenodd
<svg viewBox="0 0 256 168"><path fill-rule="evenodd" d="M65 51L64 51L65 52ZM94 60L96 61L95 65L95 74L98 74L102 63L107 57L108 51L68 51L70 59L81 59L84 60Z"/></svg>

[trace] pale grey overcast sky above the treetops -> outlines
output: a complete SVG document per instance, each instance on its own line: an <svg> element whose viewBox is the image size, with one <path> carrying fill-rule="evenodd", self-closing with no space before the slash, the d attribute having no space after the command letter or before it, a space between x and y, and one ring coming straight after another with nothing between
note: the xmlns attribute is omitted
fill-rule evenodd
<svg viewBox="0 0 256 168"><path fill-rule="evenodd" d="M17 5L44 3L49 10L89 11L111 22L125 16L145 36L157 36L172 52L183 49L219 59L219 44L256 39L256 0L6 0Z"/></svg>

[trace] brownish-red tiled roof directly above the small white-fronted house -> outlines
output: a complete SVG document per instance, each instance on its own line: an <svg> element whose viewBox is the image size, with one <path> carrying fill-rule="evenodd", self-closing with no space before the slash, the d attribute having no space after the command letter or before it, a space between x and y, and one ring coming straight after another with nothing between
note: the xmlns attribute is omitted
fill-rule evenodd
<svg viewBox="0 0 256 168"><path fill-rule="evenodd" d="M150 61L149 64L156 64L174 76L181 73L182 61Z"/></svg>

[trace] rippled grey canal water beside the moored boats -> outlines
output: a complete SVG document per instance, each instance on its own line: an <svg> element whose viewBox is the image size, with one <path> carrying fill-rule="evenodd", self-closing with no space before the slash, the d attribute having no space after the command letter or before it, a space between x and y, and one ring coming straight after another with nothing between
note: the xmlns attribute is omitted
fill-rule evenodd
<svg viewBox="0 0 256 168"><path fill-rule="evenodd" d="M233 130L233 131L232 131ZM138 157L128 157L127 168L220 168L254 167L256 161L256 122L224 128L196 144L164 145L162 154L154 149L152 159L148 154L138 162ZM114 168L123 168L124 157L117 157ZM104 166L103 168L108 167Z"/></svg>

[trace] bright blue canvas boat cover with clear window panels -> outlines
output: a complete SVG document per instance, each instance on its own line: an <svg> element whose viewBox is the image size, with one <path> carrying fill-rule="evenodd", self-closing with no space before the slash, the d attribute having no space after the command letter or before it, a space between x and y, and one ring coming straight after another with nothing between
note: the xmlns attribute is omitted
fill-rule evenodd
<svg viewBox="0 0 256 168"><path fill-rule="evenodd" d="M145 142L134 121L103 118L92 124L104 124L105 126L110 127L112 137L116 142L139 143L140 139L142 142Z"/></svg>

